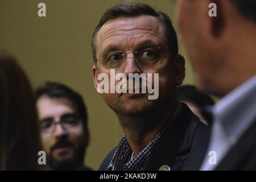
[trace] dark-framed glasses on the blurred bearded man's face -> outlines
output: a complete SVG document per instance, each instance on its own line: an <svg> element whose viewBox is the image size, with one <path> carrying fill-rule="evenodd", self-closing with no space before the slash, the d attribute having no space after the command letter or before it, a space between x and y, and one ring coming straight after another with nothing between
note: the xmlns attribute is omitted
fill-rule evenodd
<svg viewBox="0 0 256 182"><path fill-rule="evenodd" d="M70 130L78 126L81 122L77 114L63 114L59 121L55 121L53 117L44 118L40 121L40 129L43 133L51 134L55 130L56 125L60 124L64 130Z"/></svg>

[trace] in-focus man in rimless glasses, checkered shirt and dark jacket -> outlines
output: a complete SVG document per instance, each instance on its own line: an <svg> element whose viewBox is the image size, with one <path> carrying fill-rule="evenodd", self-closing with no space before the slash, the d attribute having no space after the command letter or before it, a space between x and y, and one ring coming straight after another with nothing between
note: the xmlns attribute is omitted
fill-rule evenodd
<svg viewBox="0 0 256 182"><path fill-rule="evenodd" d="M170 18L148 5L117 5L102 15L92 38L94 85L117 115L125 136L106 156L100 170L200 168L209 129L187 105L177 101L176 86L185 77L185 61L177 52L177 36ZM111 88L110 93L101 92L109 90L105 86L113 85L113 70L125 75L119 77L125 83L134 82L130 74L158 74L158 79L149 84L159 86L159 96L150 99L150 92L142 92L142 84L138 86L139 93L130 92L136 89L130 88L130 83L127 92L111 92ZM110 77L104 88L102 74ZM114 79L116 88L117 80Z"/></svg>

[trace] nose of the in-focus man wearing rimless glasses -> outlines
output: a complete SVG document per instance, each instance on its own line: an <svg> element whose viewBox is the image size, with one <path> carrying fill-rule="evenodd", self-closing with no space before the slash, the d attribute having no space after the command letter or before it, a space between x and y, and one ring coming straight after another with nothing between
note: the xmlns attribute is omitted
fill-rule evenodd
<svg viewBox="0 0 256 182"><path fill-rule="evenodd" d="M129 73L142 73L141 65L139 65L134 53L127 53L123 73L127 76Z"/></svg>

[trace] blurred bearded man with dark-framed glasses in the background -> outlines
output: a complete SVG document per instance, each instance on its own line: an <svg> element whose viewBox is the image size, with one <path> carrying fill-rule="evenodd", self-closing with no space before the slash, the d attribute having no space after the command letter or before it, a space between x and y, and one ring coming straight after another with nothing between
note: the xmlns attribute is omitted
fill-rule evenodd
<svg viewBox="0 0 256 182"><path fill-rule="evenodd" d="M36 89L40 132L51 170L90 170L84 166L89 143L86 107L68 86L46 82Z"/></svg>

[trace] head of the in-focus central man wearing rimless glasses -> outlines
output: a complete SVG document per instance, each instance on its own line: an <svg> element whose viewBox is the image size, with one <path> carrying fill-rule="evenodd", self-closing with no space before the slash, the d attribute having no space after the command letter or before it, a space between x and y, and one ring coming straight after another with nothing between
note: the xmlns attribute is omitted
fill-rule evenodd
<svg viewBox="0 0 256 182"><path fill-rule="evenodd" d="M184 79L184 59L177 54L177 37L170 18L140 3L117 5L106 11L92 39L94 84L100 73L159 73L159 97L148 93L104 93L117 114L141 114L168 108L176 101L176 86ZM155 80L153 80L154 83ZM115 82L115 84L117 84ZM141 90L140 90L141 91Z"/></svg>

